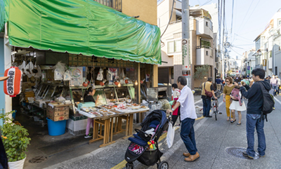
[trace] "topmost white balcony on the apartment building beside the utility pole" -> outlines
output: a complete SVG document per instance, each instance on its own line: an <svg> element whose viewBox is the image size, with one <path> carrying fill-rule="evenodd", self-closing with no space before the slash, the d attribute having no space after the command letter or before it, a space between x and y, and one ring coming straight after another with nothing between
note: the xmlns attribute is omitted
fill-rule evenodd
<svg viewBox="0 0 281 169"><path fill-rule="evenodd" d="M207 39L213 39L213 25L212 22L206 18L197 20L196 34Z"/></svg>

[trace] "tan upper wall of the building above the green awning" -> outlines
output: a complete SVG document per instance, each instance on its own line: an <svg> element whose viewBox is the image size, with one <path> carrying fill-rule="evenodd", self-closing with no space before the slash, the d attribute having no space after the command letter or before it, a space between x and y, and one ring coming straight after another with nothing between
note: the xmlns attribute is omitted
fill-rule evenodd
<svg viewBox="0 0 281 169"><path fill-rule="evenodd" d="M122 13L140 16L138 19L157 25L157 0L123 0Z"/></svg>

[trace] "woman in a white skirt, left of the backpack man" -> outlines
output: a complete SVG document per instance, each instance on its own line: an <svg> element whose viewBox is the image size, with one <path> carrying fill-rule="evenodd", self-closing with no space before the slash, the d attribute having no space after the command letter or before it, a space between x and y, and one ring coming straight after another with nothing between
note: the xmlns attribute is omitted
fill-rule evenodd
<svg viewBox="0 0 281 169"><path fill-rule="evenodd" d="M245 83L245 82L242 81L242 83ZM238 90L239 91L240 86L239 86L239 81L238 80L234 81L234 86L235 87L234 87L233 90ZM234 93L233 91L231 93L232 93L232 95L230 95L230 97L233 100L233 102L230 104L229 109L231 109L231 115L233 116L233 119L230 120L230 122L234 123L236 121L236 118L235 118L235 110L236 110L237 113L238 113L238 123L237 123L237 126L240 126L241 125L241 119L242 119L241 111L245 111L246 110L246 106L244 104L244 101L242 100L243 97L242 97L241 92L239 92L239 95L237 97L235 97L233 95L233 93Z"/></svg>

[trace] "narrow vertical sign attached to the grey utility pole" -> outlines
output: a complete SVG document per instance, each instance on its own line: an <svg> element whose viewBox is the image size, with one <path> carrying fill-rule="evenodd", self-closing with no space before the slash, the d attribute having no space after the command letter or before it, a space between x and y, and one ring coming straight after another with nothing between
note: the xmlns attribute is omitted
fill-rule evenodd
<svg viewBox="0 0 281 169"><path fill-rule="evenodd" d="M183 75L190 75L188 39L183 39L181 43L183 45Z"/></svg>

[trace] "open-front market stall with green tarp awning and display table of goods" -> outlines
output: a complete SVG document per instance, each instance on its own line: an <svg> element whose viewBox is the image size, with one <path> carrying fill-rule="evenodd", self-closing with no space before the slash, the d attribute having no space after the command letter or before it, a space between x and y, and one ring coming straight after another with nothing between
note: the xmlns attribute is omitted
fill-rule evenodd
<svg viewBox="0 0 281 169"><path fill-rule="evenodd" d="M157 86L157 65L161 64L157 26L95 1L64 1L59 8L57 1L48 5L15 0L0 4L4 16L0 29L5 29L5 43L13 51L5 58L19 67L24 83L32 84L22 90L22 114L42 126L47 117L53 122L66 121L66 130L72 135L84 135L88 117L93 118L93 140L103 138L104 144L113 142L113 133L122 132L122 121L126 121L124 137L132 134L133 122L140 123L140 114L149 110L136 106L143 99L141 84ZM58 10L50 12L50 6ZM96 88L95 100L100 96L97 111L90 111L97 116L79 107L87 88ZM50 107L63 108L55 111ZM60 115L64 117L55 117ZM105 130L105 135L99 135L97 128Z"/></svg>

